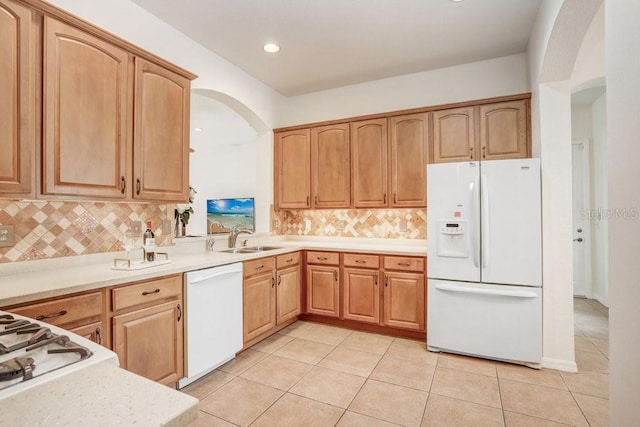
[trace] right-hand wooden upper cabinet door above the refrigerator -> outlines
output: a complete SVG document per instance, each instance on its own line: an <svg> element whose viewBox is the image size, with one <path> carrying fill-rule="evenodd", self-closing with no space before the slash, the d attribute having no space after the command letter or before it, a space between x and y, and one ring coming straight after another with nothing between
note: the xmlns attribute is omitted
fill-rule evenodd
<svg viewBox="0 0 640 427"><path fill-rule="evenodd" d="M528 101L481 105L481 160L517 159L529 156Z"/></svg>

